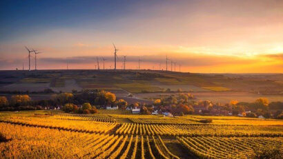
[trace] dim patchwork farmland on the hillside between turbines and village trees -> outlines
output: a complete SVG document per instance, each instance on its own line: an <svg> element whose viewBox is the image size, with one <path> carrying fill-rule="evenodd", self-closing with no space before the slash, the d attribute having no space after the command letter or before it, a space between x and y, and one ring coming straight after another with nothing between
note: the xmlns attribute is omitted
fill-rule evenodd
<svg viewBox="0 0 283 159"><path fill-rule="evenodd" d="M282 100L282 74L192 74L153 70L41 70L37 72L1 71L0 91L32 92L52 89L72 92L82 89L104 89L123 98L158 98L175 94L178 89L191 92L197 100L228 103L235 99L251 102L262 96L270 101ZM46 96L49 98L49 96Z"/></svg>

